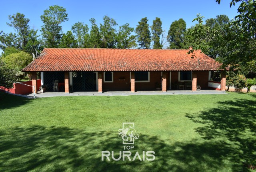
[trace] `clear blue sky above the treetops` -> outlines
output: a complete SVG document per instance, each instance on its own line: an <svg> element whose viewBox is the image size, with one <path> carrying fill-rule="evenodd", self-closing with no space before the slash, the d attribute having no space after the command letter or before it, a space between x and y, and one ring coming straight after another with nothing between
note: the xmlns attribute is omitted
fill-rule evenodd
<svg viewBox="0 0 256 172"><path fill-rule="evenodd" d="M134 28L143 17L148 17L150 26L154 18L159 17L163 23L162 28L168 32L170 24L179 18L186 21L187 28L194 25L192 20L196 18L197 13L202 14L206 19L220 14L226 14L230 19L234 18L238 4L230 8L230 1L222 0L218 5L215 0L4 0L1 2L0 30L6 33L13 32L6 22L9 22L8 15L16 12L23 13L30 19L30 26L40 30L42 26L40 15L49 6L59 5L66 8L69 18L62 24L64 32L71 30L71 26L78 21L90 26L90 18L95 18L99 24L104 15L114 18L119 25L129 23Z"/></svg>

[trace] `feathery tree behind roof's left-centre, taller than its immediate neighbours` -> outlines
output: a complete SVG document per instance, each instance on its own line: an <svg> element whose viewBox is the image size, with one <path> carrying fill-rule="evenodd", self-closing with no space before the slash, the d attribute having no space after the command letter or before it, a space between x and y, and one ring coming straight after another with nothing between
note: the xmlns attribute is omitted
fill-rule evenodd
<svg viewBox="0 0 256 172"><path fill-rule="evenodd" d="M103 17L104 24L100 24L101 48L116 48L116 20L108 16Z"/></svg>

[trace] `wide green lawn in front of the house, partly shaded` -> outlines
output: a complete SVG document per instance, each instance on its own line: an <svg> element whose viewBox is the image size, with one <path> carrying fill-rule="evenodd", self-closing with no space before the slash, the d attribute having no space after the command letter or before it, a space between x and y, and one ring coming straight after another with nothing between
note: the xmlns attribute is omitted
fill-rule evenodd
<svg viewBox="0 0 256 172"><path fill-rule="evenodd" d="M153 150L154 161L101 160L123 150L122 122L139 134L132 153ZM244 164L256 166L256 94L0 94L0 171L250 171Z"/></svg>

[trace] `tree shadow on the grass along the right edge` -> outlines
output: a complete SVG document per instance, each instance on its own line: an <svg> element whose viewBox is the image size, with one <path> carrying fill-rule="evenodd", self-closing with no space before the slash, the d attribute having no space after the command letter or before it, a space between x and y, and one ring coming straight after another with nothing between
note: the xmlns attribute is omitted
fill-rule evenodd
<svg viewBox="0 0 256 172"><path fill-rule="evenodd" d="M216 108L186 116L193 122L204 124L196 128L202 138L210 142L224 141L231 146L232 156L229 156L229 160L256 165L256 100L218 102Z"/></svg>

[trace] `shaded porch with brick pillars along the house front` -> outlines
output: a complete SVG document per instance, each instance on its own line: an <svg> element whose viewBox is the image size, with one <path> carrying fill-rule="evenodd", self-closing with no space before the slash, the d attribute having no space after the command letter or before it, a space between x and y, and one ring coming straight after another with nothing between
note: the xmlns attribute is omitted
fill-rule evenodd
<svg viewBox="0 0 256 172"><path fill-rule="evenodd" d="M37 86L36 72L32 72L32 85ZM58 89L54 83L58 82ZM221 72L221 82L210 80L210 71L54 71L41 72L41 85L48 92L139 92L167 90L225 91L226 72ZM33 90L32 90L33 91ZM37 93L37 92L36 92Z"/></svg>

